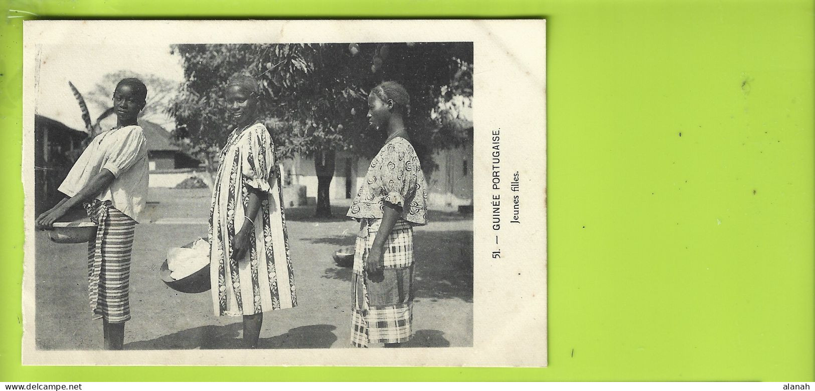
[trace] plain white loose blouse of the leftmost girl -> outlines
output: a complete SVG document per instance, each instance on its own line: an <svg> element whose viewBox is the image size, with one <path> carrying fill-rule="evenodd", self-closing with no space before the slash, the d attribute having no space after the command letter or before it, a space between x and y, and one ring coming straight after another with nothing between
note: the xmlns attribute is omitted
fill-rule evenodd
<svg viewBox="0 0 815 391"><path fill-rule="evenodd" d="M139 221L139 212L148 198L148 146L139 125L130 125L101 133L90 141L59 191L74 197L103 169L115 179L95 198L110 201L112 206Z"/></svg>

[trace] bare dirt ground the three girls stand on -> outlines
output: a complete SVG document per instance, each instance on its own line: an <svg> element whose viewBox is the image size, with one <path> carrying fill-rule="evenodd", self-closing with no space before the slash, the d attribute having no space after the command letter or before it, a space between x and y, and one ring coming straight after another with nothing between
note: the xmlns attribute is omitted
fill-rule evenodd
<svg viewBox="0 0 815 391"><path fill-rule="evenodd" d="M136 226L125 349L239 348L240 317L215 316L209 292L178 293L158 276L167 250L206 237L209 190L152 188L150 201ZM353 245L357 225L344 217L347 206L333 209L332 219L315 219L314 206L286 211L299 306L263 315L261 348L350 347L350 268L338 267L332 254ZM470 346L472 216L431 211L430 219L415 230L416 337L406 345ZM88 306L87 245L55 244L37 232L35 251L38 348L100 349L102 324Z"/></svg>

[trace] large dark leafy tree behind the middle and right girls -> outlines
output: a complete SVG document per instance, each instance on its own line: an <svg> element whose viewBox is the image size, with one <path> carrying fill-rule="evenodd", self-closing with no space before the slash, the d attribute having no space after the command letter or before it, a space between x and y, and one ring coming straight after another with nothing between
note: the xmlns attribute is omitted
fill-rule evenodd
<svg viewBox="0 0 815 391"><path fill-rule="evenodd" d="M229 131L222 93L243 72L261 86L260 116L279 158L314 158L316 215L328 216L337 150L371 157L385 135L368 128L367 97L385 80L411 93L413 141L425 168L430 152L468 137L460 126L472 98L473 46L466 42L399 44L176 45L186 81L170 105L178 137L214 171ZM457 97L457 98L456 98ZM455 101L455 102L454 102ZM433 146L433 148L430 148Z"/></svg>

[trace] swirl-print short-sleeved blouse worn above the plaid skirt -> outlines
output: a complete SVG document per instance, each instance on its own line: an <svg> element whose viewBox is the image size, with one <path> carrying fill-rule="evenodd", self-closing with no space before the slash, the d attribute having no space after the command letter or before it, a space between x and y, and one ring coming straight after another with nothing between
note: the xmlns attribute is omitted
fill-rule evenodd
<svg viewBox="0 0 815 391"><path fill-rule="evenodd" d="M427 182L410 141L394 137L371 160L348 216L381 219L385 202L402 207L402 219L427 224Z"/></svg>

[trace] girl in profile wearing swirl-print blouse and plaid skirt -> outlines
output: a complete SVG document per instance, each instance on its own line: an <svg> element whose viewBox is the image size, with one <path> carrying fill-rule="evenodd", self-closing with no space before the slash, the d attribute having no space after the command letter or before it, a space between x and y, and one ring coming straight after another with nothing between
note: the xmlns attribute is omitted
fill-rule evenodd
<svg viewBox="0 0 815 391"><path fill-rule="evenodd" d="M397 347L412 337L413 226L427 224L427 183L410 142L410 98L386 81L368 95L369 126L387 133L348 216L360 222L351 345Z"/></svg>

